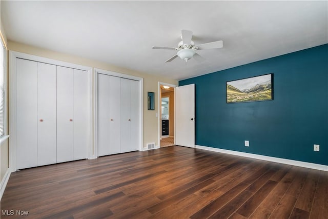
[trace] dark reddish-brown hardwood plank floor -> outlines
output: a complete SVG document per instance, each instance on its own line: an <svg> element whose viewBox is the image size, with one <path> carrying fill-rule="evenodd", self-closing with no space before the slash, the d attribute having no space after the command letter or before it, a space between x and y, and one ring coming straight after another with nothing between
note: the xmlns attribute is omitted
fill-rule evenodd
<svg viewBox="0 0 328 219"><path fill-rule="evenodd" d="M328 172L172 146L17 171L1 214L328 218Z"/></svg>

